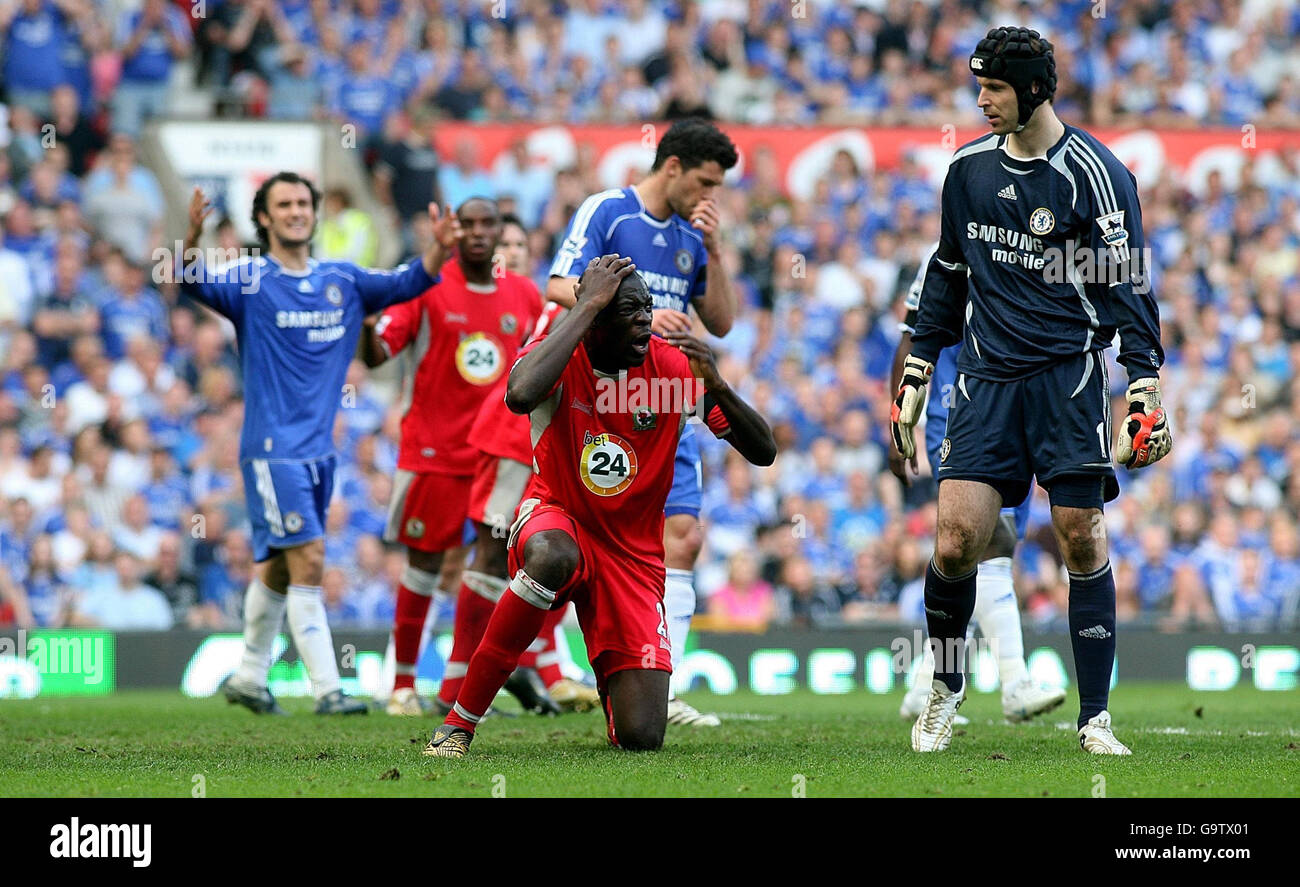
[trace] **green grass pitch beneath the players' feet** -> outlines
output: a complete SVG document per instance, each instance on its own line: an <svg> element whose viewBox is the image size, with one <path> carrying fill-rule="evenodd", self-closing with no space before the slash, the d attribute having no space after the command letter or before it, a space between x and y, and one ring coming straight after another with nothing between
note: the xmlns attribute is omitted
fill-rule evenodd
<svg viewBox="0 0 1300 887"><path fill-rule="evenodd" d="M1297 692L1126 684L1110 710L1128 758L1079 750L1072 695L1011 726L976 693L971 724L926 756L901 692L688 698L723 726L670 727L663 750L629 754L597 713L498 718L459 762L420 754L433 719L318 718L308 700L274 719L170 692L5 700L0 796L1300 796Z"/></svg>

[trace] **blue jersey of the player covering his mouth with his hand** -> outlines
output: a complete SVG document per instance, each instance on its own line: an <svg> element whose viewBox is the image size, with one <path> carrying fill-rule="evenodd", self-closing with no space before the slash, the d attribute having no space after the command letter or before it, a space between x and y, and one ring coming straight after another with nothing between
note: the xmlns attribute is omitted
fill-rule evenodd
<svg viewBox="0 0 1300 887"><path fill-rule="evenodd" d="M699 232L676 213L655 218L634 187L593 194L573 213L551 277L581 277L597 256L630 256L655 308L686 311L705 294L708 254Z"/></svg>

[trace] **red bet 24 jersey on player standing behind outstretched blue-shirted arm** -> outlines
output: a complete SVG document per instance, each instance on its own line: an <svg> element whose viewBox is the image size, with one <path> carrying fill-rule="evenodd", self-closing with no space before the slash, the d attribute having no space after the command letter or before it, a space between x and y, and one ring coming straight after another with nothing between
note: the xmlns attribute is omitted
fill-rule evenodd
<svg viewBox="0 0 1300 887"><path fill-rule="evenodd" d="M374 326L389 355L411 346L404 380L398 467L473 475L478 453L469 428L515 363L542 311L526 277L506 272L491 287L468 284L452 259L419 299L387 308Z"/></svg>

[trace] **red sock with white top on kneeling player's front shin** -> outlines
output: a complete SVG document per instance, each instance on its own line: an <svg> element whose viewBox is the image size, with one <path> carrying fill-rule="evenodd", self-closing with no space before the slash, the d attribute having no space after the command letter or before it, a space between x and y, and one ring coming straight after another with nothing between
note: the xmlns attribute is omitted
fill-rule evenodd
<svg viewBox="0 0 1300 887"><path fill-rule="evenodd" d="M447 723L473 732L510 672L519 663L519 654L537 637L555 592L538 585L523 570L510 581L510 594L502 594L488 620L478 649L469 661L469 670L460 684Z"/></svg>

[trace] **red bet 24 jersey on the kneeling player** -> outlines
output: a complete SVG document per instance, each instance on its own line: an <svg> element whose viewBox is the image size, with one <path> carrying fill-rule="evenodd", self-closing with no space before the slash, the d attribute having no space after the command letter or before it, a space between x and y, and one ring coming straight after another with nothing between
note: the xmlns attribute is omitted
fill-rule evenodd
<svg viewBox="0 0 1300 887"><path fill-rule="evenodd" d="M528 343L521 354L545 337ZM621 378L598 373L582 343L530 414L536 473L524 498L560 505L599 545L663 564L663 506L685 412L703 397L680 350L658 336ZM728 428L710 416L715 434Z"/></svg>

